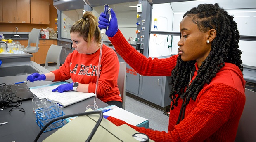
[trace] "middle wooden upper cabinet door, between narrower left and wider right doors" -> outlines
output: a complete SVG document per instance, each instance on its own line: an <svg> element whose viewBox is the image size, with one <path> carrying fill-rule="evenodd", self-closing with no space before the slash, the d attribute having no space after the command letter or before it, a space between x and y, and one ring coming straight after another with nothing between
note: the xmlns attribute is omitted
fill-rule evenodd
<svg viewBox="0 0 256 142"><path fill-rule="evenodd" d="M29 0L17 0L17 23L30 23Z"/></svg>

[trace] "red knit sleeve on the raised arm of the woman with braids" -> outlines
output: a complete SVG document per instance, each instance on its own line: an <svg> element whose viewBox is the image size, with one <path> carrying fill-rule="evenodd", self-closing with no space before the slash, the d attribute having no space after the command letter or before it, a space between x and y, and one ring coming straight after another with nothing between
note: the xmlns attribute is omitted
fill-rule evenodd
<svg viewBox="0 0 256 142"><path fill-rule="evenodd" d="M165 59L147 58L126 41L120 30L114 37L109 37L109 40L114 45L116 52L140 75L171 76L171 71L176 66L178 55Z"/></svg>

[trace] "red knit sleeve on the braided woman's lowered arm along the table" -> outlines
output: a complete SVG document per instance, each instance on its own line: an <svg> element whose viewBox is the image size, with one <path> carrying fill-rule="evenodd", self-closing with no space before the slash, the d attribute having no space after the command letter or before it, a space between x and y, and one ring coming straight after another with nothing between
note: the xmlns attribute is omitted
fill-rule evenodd
<svg viewBox="0 0 256 142"><path fill-rule="evenodd" d="M117 126L127 124L156 142L201 142L207 139L212 141L213 138L218 140L217 137L225 141L234 141L244 104L244 94L228 85L218 83L204 88L196 102L190 101L185 119L167 133L132 126L113 117L107 119ZM175 114L170 112L170 120L174 116Z"/></svg>

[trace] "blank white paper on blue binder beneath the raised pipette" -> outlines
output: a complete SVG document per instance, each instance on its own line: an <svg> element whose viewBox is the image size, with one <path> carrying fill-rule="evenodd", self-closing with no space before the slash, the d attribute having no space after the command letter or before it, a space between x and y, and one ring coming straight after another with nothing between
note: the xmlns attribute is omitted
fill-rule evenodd
<svg viewBox="0 0 256 142"><path fill-rule="evenodd" d="M117 119L125 121L128 124L135 125L135 126L148 120L143 117L137 116L131 112L128 112L122 108L114 108L113 110L104 112L104 115L115 117Z"/></svg>

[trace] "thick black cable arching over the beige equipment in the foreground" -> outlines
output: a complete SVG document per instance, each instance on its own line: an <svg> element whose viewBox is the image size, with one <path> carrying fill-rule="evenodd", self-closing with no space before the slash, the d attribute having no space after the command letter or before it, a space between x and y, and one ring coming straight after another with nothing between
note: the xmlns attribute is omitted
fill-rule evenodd
<svg viewBox="0 0 256 142"><path fill-rule="evenodd" d="M53 122L60 120L60 119L65 119L65 118L69 118L69 117L74 117L74 116L81 116L81 115L92 115L92 114L100 114L100 117L96 123L96 125L94 126L94 128L92 129L92 132L90 133L89 137L87 138L87 140L85 142L90 142L90 140L92 139L93 135L95 134L95 132L97 131L97 128L100 126L100 122L102 121L103 118L103 113L102 111L90 111L90 112L83 112L83 113L77 113L77 114L73 114L73 115L66 115L63 117L58 117L55 118L53 120L51 120L50 122L48 122L42 129L41 131L38 133L38 135L36 136L36 139L34 140L34 142L37 142L40 135L42 135L43 131L45 131L45 129L50 126Z"/></svg>

